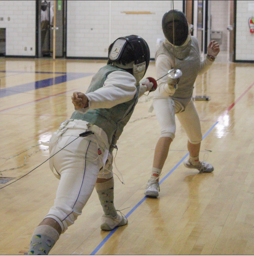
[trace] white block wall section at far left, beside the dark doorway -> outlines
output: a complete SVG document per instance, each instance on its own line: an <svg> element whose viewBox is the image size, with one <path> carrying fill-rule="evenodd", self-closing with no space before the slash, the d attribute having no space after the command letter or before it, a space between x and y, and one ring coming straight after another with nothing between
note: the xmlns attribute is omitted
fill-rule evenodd
<svg viewBox="0 0 254 256"><path fill-rule="evenodd" d="M35 15L35 0L0 1L0 18L3 18L0 28L6 29L6 55L35 56Z"/></svg>

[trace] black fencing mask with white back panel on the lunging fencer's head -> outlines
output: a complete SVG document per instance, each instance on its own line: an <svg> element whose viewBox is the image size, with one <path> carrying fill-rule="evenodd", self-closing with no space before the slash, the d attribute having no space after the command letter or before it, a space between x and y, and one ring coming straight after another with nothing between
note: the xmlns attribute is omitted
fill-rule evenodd
<svg viewBox="0 0 254 256"><path fill-rule="evenodd" d="M128 43L134 53L134 58L132 62L123 65L119 63L119 59ZM133 76L138 84L146 74L150 61L150 50L147 42L142 37L138 35L128 35L119 37L114 41L113 46L108 53L108 58L114 66L122 69L133 69Z"/></svg>

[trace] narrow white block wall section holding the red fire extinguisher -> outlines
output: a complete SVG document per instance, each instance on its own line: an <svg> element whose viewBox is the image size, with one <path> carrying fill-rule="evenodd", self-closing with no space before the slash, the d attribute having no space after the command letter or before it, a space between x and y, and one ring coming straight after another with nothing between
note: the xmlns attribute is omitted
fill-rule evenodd
<svg viewBox="0 0 254 256"><path fill-rule="evenodd" d="M254 17L254 1L236 1L236 60L254 60L254 33L248 19Z"/></svg>

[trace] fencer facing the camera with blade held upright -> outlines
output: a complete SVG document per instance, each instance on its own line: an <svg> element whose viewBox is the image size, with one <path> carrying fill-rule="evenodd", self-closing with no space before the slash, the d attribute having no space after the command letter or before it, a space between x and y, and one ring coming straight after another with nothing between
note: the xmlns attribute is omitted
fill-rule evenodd
<svg viewBox="0 0 254 256"><path fill-rule="evenodd" d="M157 78L174 68L174 59L175 68L182 71L182 77L180 79L163 77L158 81L158 89L154 93L152 108L160 124L161 135L155 147L152 173L145 191L145 195L152 197L159 195L159 176L169 146L175 138L175 114L188 136L190 158L184 161L184 165L187 168L198 169L199 172L214 170L210 163L199 161L202 133L200 120L192 101L192 93L197 75L206 72L219 53L219 44L214 40L211 41L207 47L207 57L201 61L197 38L191 36L186 16L179 10L174 10L174 15L173 10L164 14L162 30L166 40L155 55Z"/></svg>

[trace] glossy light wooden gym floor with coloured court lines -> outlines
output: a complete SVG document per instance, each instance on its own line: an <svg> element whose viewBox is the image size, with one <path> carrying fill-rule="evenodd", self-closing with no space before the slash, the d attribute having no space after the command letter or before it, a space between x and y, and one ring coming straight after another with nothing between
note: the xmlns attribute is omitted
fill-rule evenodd
<svg viewBox="0 0 254 256"><path fill-rule="evenodd" d="M0 60L2 188L48 158L40 141L47 142L70 117L70 96L85 92L106 61ZM122 211L128 225L102 231L103 210L94 191L50 254L254 254L253 74L254 64L215 62L197 78L194 95L211 97L195 102L205 137L200 159L212 163L214 172L185 168L187 136L177 120L157 199L146 198L144 188L160 128L154 112L148 113L152 93L140 98L117 143L116 164L126 185L115 176L115 206L129 207ZM146 76L155 77L154 62ZM57 185L46 162L0 190L0 254L28 252Z"/></svg>

